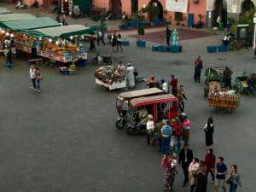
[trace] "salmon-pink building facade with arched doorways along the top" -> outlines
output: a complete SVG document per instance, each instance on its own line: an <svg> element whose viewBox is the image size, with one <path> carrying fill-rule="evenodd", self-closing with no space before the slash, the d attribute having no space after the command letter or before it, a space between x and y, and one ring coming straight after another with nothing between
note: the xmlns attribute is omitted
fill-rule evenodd
<svg viewBox="0 0 256 192"><path fill-rule="evenodd" d="M240 14L256 6L256 0L93 0L95 7L112 10L117 15L124 12L131 15L153 4L160 8L158 17L172 24L180 21L188 25L191 20L196 23L202 15L204 26L212 27L216 25L218 16L222 16L224 23L228 17L238 19ZM148 14L144 17L152 19Z"/></svg>

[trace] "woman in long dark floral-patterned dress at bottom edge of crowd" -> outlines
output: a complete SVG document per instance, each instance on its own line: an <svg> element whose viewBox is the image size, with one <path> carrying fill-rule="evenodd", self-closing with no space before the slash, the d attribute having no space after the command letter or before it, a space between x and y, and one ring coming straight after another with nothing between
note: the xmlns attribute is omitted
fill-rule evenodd
<svg viewBox="0 0 256 192"><path fill-rule="evenodd" d="M165 169L164 175L164 192L172 191L176 170L177 160L169 158L164 154L161 166Z"/></svg>

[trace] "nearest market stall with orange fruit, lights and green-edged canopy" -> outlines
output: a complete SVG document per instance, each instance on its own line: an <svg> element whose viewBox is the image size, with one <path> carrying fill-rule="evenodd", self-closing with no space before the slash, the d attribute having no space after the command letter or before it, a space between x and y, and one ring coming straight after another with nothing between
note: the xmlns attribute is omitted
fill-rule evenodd
<svg viewBox="0 0 256 192"><path fill-rule="evenodd" d="M44 41L38 46L38 55L61 62L87 60L87 53L78 45L79 35L91 32L94 32L94 29L82 25L56 26L30 31L32 35L44 37ZM75 37L77 44L72 43Z"/></svg>

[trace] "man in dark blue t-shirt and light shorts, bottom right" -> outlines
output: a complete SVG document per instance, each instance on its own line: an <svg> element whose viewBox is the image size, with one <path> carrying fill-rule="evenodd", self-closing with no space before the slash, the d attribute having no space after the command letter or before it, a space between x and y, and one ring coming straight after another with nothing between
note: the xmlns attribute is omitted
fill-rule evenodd
<svg viewBox="0 0 256 192"><path fill-rule="evenodd" d="M214 192L218 192L218 187L221 186L223 192L226 192L225 178L227 174L227 166L224 164L224 158L219 157L218 163L216 164L216 178L214 185Z"/></svg>

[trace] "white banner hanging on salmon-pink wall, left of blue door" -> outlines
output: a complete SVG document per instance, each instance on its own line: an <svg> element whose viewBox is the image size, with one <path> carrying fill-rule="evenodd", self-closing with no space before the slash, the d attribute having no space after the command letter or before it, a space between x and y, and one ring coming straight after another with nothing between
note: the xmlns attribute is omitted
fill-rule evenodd
<svg viewBox="0 0 256 192"><path fill-rule="evenodd" d="M166 0L166 10L187 13L188 0Z"/></svg>

